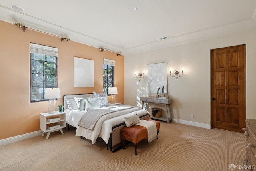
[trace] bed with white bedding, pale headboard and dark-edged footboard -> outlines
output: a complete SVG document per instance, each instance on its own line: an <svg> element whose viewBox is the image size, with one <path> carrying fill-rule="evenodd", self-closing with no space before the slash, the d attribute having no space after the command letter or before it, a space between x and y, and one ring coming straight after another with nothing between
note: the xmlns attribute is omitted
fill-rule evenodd
<svg viewBox="0 0 256 171"><path fill-rule="evenodd" d="M97 94L97 93L96 93ZM100 94L99 94L100 95ZM107 145L107 149L110 149L113 153L118 149L122 148L122 141L120 137L120 131L123 127L126 127L124 123L124 117L128 117L134 114L138 114L140 119L150 119L151 115L146 110L142 110L140 107L135 106L128 106L128 105L111 105L109 104L108 107L99 107L99 109L92 109L92 110L79 110L79 109L72 109L70 108L70 101L72 99L79 99L79 98L87 98L90 99L94 96L94 93L91 94L76 94L76 95L64 95L63 97L63 104L64 104L64 112L66 113L66 123L68 127L71 125L76 127L76 136L80 136L81 139L85 137L92 141L94 144L98 137L100 137ZM87 100L86 99L86 100ZM68 103L67 103L68 101ZM89 104L89 103L88 103ZM86 103L85 103L86 106ZM122 108L122 109L121 109ZM124 109L127 108L127 109ZM77 124L81 124L80 119L86 116L89 113L102 111L108 111L115 109L116 111L113 112L115 117L109 116L113 115L113 113L107 113L102 115L96 123L94 123L94 129L85 128L83 126L78 126ZM87 113L84 115L84 113ZM119 115L122 114L122 115ZM83 116L84 115L84 116Z"/></svg>

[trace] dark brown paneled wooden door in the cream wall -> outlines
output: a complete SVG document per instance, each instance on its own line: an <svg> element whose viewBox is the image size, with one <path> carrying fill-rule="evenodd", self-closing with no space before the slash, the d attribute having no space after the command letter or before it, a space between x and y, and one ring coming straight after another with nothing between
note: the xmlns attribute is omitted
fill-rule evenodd
<svg viewBox="0 0 256 171"><path fill-rule="evenodd" d="M211 50L211 124L244 132L245 45Z"/></svg>

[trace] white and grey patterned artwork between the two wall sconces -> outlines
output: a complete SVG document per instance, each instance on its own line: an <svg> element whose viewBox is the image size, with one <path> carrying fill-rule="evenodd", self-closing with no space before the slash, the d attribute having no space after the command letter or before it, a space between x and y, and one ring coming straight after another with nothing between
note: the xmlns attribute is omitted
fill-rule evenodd
<svg viewBox="0 0 256 171"><path fill-rule="evenodd" d="M167 62L148 64L147 69L147 84L150 93L167 94Z"/></svg>

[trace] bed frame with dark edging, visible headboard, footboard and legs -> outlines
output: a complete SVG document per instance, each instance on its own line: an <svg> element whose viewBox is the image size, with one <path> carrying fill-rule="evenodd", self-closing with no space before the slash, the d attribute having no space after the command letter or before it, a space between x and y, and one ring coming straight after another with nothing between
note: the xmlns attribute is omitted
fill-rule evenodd
<svg viewBox="0 0 256 171"><path fill-rule="evenodd" d="M64 95L63 96L63 105L64 110L68 108L68 104L66 103L67 98L74 98L74 97L90 97L93 94L72 94L72 95ZM140 117L140 119L150 119L150 115L146 114ZM112 127L112 133L110 134L110 138L107 144L107 150L109 149L113 153L118 151L123 147L122 140L121 140L121 129L125 127L125 123L118 124ZM68 125L69 129L69 125ZM83 137L81 137L83 139ZM128 142L127 142L128 143Z"/></svg>

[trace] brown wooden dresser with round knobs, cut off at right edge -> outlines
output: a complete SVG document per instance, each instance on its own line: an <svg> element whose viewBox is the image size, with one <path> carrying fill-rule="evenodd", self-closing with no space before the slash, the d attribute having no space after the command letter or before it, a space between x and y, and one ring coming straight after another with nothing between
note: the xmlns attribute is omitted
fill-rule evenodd
<svg viewBox="0 0 256 171"><path fill-rule="evenodd" d="M243 128L246 136L246 161L248 170L256 169L256 120L246 119L246 128Z"/></svg>

